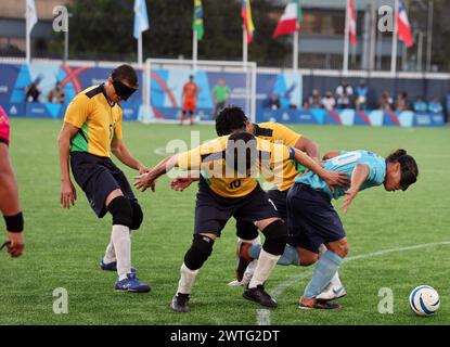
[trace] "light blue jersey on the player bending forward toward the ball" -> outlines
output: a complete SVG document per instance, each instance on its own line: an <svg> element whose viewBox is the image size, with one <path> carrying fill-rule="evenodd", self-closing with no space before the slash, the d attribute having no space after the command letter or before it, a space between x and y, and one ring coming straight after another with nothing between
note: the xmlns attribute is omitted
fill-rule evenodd
<svg viewBox="0 0 450 347"><path fill-rule="evenodd" d="M329 171L345 172L350 178L353 169L359 164L365 164L369 167L369 177L361 185L360 191L383 184L386 176L386 159L369 151L343 151L339 156L326 160L324 168ZM348 190L348 188L344 187L334 187L334 193L332 193L325 181L312 171L297 177L295 182L325 192L331 198L339 198Z"/></svg>

